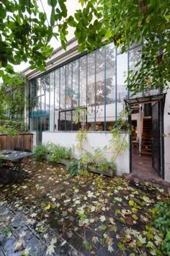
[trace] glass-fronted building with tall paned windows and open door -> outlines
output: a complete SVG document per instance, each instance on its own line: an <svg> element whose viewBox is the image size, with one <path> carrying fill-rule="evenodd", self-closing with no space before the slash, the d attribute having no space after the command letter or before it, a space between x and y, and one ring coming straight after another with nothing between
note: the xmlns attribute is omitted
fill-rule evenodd
<svg viewBox="0 0 170 256"><path fill-rule="evenodd" d="M169 92L165 96L148 90L132 97L125 81L129 70L136 71L141 50L141 45L133 45L122 54L110 43L93 53L79 54L73 39L67 51L58 48L48 58L47 71L24 70L30 102L28 123L35 144L52 141L75 146L76 131L86 129L87 149L101 148L109 143L110 131L128 106L132 110L132 134L126 136L130 146L117 157L117 169L120 174L132 171L133 147L137 146L138 154L150 156L156 172L161 170L158 176L170 180L170 172L164 175L170 166L166 156L170 141L162 136L170 128ZM109 152L106 154L109 159Z"/></svg>

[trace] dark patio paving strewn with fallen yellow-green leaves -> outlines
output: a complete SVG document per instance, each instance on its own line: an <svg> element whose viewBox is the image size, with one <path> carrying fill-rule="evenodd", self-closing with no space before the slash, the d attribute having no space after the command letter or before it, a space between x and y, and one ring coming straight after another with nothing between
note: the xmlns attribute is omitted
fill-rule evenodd
<svg viewBox="0 0 170 256"><path fill-rule="evenodd" d="M26 171L13 185L0 179L0 256L133 256L158 249L146 226L154 203L169 197L164 190L87 172L70 178L63 165L33 160Z"/></svg>

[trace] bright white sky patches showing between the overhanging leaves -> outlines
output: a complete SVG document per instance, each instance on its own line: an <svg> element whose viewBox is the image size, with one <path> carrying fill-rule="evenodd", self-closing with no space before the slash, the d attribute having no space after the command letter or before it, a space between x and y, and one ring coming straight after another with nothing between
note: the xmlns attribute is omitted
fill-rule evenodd
<svg viewBox="0 0 170 256"><path fill-rule="evenodd" d="M43 9L42 9L42 4L43 4L47 17L50 17L50 6L48 6L47 0L42 0L42 4L40 0L37 0L37 4L40 7L41 12L43 12ZM71 14L73 15L73 13L75 12L76 6L77 6L77 9L81 8L81 5L78 3L78 0L67 0L66 5L68 9L68 16ZM74 37L73 31L71 31L70 35L68 36L68 40L71 40L71 38L73 37ZM52 38L50 40L50 45L54 48L54 50L57 49L59 46L61 46L59 41L56 40L55 38ZM14 66L14 71L23 71L28 67L29 67L28 62L27 63L22 62L20 65Z"/></svg>

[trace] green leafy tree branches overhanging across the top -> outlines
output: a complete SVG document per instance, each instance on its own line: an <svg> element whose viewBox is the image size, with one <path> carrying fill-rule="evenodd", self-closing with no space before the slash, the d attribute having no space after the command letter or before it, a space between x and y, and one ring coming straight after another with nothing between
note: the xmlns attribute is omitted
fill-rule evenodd
<svg viewBox="0 0 170 256"><path fill-rule="evenodd" d="M68 27L75 28L79 50L94 48L113 41L122 53L134 43L143 44L140 68L129 74L128 87L142 89L169 88L170 81L170 13L169 0L79 0L82 9L67 17L66 0L48 0L50 22L40 12L36 1L1 1L0 3L0 75L12 72L10 63L30 58L32 69L44 70L45 58L53 48L51 37L59 37L66 49ZM65 20L63 20L65 19ZM47 24L47 25L46 25ZM58 26L58 33L54 27Z"/></svg>

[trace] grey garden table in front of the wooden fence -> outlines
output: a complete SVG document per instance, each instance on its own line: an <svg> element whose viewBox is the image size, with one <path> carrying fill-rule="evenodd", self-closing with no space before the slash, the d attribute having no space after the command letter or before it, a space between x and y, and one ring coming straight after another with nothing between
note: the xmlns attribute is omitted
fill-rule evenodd
<svg viewBox="0 0 170 256"><path fill-rule="evenodd" d="M9 169L11 172L24 172L24 165L27 163L27 159L32 155L32 152L1 150L0 159L3 163L0 167L1 172L3 172L4 169ZM3 176L1 175L1 177Z"/></svg>

